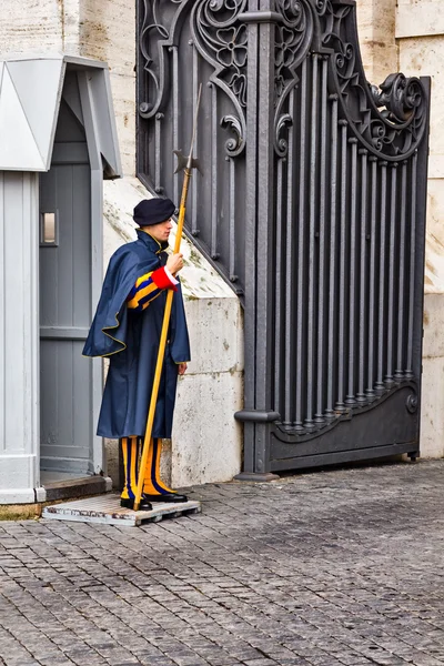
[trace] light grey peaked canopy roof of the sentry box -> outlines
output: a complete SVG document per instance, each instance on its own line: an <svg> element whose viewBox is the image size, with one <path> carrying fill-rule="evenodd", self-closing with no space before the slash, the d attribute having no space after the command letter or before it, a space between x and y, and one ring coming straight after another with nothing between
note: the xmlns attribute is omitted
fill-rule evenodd
<svg viewBox="0 0 444 666"><path fill-rule="evenodd" d="M108 65L70 56L11 58L0 61L0 170L48 171L64 75L88 71L95 140L105 178L122 175ZM69 90L63 98L70 104ZM72 111L84 124L75 98Z"/></svg>

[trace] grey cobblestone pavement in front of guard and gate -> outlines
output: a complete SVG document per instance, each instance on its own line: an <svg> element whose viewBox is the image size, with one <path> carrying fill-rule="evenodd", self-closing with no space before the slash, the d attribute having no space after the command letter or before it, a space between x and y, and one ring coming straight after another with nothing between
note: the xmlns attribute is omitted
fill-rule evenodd
<svg viewBox="0 0 444 666"><path fill-rule="evenodd" d="M0 523L7 666L444 664L444 461L199 486L139 528Z"/></svg>

